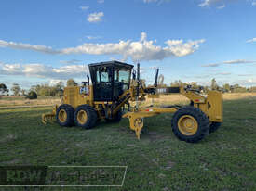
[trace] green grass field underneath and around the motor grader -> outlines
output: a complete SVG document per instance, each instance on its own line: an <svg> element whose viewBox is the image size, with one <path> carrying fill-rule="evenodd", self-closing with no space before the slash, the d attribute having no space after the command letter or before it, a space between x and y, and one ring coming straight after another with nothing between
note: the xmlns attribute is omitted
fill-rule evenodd
<svg viewBox="0 0 256 191"><path fill-rule="evenodd" d="M123 187L44 190L255 190L255 98L225 101L222 127L197 144L172 134L171 114L146 119L138 141L127 119L87 131L45 126L49 109L0 110L0 165L127 165L128 172Z"/></svg>

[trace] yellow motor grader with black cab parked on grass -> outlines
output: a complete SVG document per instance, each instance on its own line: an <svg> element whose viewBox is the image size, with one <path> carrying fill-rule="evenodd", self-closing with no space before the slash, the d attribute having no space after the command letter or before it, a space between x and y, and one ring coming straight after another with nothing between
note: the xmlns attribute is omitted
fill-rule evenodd
<svg viewBox="0 0 256 191"><path fill-rule="evenodd" d="M203 96L189 85L159 87L158 70L154 85L146 87L140 80L140 64L137 71L133 70L133 65L119 61L89 64L88 69L92 84L88 77L82 86L66 87L61 105L56 106L52 113L43 114L44 123L56 118L61 126L76 125L90 129L101 119L118 122L123 117L128 118L130 129L140 139L144 118L174 113L171 120L173 133L182 141L195 143L216 131L223 121L222 93L218 91L209 91L207 96ZM145 97L158 98L161 94L173 93L186 96L190 104L139 107L138 102L145 100ZM133 108L130 108L131 101L136 103ZM127 112L123 114L123 110Z"/></svg>

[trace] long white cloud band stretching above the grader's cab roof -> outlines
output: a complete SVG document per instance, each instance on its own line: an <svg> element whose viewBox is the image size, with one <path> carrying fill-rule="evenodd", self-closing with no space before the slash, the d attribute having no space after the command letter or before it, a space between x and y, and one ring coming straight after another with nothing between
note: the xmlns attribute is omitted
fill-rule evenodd
<svg viewBox="0 0 256 191"><path fill-rule="evenodd" d="M193 54L204 39L183 42L183 40L167 40L166 46L155 45L155 41L148 41L145 32L141 33L140 41L122 41L119 43L92 44L86 43L75 47L68 47L61 50L45 49L38 50L34 45L27 45L31 50L40 51L48 54L85 54L85 55L120 55L123 59L131 58L133 61L143 60L162 60L167 57L184 57ZM6 42L2 47L10 47ZM16 43L12 43L16 44ZM1 44L0 44L1 45ZM24 44L22 44L24 45ZM44 46L44 45L40 45ZM19 49L28 49L23 46L14 47Z"/></svg>

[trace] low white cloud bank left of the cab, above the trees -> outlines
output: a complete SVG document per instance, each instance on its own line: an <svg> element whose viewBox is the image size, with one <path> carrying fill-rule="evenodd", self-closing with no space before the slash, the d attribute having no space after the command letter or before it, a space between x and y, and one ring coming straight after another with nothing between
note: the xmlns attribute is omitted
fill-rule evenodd
<svg viewBox="0 0 256 191"><path fill-rule="evenodd" d="M53 68L41 63L34 64L1 64L1 75L21 75L38 78L51 78L66 80L83 77L88 73L88 67L83 65L70 65Z"/></svg>

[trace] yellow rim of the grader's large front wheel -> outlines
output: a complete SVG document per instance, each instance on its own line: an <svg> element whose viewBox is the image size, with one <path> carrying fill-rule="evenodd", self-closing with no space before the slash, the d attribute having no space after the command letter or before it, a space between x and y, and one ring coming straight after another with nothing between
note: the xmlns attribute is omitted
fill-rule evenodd
<svg viewBox="0 0 256 191"><path fill-rule="evenodd" d="M198 130L198 123L193 116L184 115L178 121L178 128L182 134L193 135Z"/></svg>

